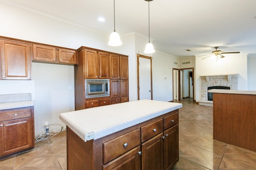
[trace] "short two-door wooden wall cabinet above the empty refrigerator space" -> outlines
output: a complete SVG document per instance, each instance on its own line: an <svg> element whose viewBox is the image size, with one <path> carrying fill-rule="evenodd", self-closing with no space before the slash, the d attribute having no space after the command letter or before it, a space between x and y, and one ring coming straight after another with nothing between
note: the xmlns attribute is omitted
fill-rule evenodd
<svg viewBox="0 0 256 170"><path fill-rule="evenodd" d="M50 62L56 64L77 64L76 51L34 44L34 61Z"/></svg>

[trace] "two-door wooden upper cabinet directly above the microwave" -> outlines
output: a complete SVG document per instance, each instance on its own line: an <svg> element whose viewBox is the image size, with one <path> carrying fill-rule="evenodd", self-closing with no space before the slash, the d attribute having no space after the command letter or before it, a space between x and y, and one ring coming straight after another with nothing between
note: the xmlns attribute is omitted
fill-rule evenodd
<svg viewBox="0 0 256 170"><path fill-rule="evenodd" d="M84 50L85 78L109 79L109 54Z"/></svg>

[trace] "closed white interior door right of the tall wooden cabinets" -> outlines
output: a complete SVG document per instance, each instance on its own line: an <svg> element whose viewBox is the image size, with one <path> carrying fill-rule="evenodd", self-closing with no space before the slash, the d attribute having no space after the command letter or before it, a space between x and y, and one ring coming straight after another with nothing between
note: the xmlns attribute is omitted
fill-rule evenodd
<svg viewBox="0 0 256 170"><path fill-rule="evenodd" d="M137 55L138 100L152 100L152 57Z"/></svg>

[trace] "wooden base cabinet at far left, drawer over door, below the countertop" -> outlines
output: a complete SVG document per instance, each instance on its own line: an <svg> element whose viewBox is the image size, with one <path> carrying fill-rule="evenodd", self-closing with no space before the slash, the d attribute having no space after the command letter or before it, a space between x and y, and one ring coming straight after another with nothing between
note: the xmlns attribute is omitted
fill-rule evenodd
<svg viewBox="0 0 256 170"><path fill-rule="evenodd" d="M0 157L34 148L34 107L0 110Z"/></svg>

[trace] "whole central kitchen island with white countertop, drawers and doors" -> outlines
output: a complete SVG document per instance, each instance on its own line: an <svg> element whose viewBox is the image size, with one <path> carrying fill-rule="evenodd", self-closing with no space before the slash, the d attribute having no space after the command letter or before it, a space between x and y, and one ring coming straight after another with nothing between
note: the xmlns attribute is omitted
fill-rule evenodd
<svg viewBox="0 0 256 170"><path fill-rule="evenodd" d="M61 113L67 125L67 168L171 169L178 162L181 107L138 100Z"/></svg>

